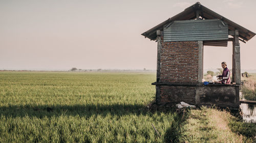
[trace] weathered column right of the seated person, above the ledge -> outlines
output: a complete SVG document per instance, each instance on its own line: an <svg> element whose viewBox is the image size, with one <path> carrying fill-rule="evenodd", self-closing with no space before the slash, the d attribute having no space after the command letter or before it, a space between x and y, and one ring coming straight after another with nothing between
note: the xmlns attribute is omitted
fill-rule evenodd
<svg viewBox="0 0 256 143"><path fill-rule="evenodd" d="M236 82L236 84L241 84L240 43L238 30L234 31L232 64L232 80L233 82Z"/></svg>

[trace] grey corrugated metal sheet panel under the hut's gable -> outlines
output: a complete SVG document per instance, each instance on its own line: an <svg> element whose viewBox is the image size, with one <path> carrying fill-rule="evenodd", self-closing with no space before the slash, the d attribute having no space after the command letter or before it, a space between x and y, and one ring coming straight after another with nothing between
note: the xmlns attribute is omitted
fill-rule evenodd
<svg viewBox="0 0 256 143"><path fill-rule="evenodd" d="M219 19L174 21L164 26L163 35L164 42L227 40L228 26Z"/></svg>

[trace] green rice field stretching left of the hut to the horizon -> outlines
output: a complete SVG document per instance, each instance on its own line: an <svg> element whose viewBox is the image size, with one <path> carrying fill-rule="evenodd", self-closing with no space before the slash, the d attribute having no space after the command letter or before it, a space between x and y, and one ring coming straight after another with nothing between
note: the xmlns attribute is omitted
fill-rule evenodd
<svg viewBox="0 0 256 143"><path fill-rule="evenodd" d="M155 73L0 72L0 142L175 140L181 117L145 109L155 95L155 78Z"/></svg>

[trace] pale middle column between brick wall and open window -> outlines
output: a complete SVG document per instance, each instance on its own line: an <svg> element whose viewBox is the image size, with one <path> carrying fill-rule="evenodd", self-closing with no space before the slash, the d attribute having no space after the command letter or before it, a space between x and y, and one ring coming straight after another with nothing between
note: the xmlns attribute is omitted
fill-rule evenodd
<svg viewBox="0 0 256 143"><path fill-rule="evenodd" d="M198 41L199 59L198 59L198 82L201 83L203 79L203 41Z"/></svg>

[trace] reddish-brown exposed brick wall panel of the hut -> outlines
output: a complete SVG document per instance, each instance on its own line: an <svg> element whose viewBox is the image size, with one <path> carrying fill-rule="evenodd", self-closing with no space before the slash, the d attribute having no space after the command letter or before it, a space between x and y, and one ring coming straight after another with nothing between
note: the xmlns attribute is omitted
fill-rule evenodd
<svg viewBox="0 0 256 143"><path fill-rule="evenodd" d="M162 42L160 61L160 82L198 82L198 41Z"/></svg>

